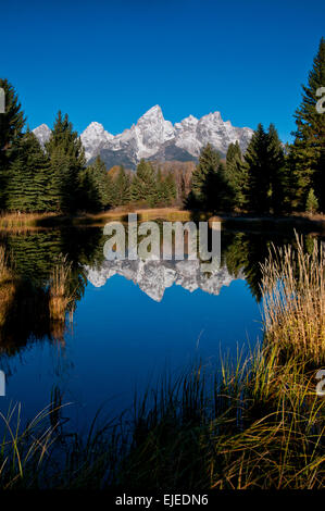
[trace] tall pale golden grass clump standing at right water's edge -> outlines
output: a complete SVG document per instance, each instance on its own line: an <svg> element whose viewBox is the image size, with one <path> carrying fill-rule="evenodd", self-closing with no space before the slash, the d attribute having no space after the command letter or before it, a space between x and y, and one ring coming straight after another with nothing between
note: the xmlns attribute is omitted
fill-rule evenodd
<svg viewBox="0 0 325 511"><path fill-rule="evenodd" d="M325 362L325 252L314 240L309 253L296 237L297 249L273 247L262 265L265 340L317 366Z"/></svg>

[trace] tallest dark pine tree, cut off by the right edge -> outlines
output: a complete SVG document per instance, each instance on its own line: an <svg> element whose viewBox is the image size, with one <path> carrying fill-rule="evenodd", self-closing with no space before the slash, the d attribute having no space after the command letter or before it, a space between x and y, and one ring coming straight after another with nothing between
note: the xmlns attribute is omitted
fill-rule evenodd
<svg viewBox="0 0 325 511"><path fill-rule="evenodd" d="M316 109L318 90L325 86L325 39L322 37L302 101L295 119L297 130L289 154L295 186L293 208L303 210L310 188L314 188L320 207L325 210L325 115ZM324 94L323 94L324 96Z"/></svg>

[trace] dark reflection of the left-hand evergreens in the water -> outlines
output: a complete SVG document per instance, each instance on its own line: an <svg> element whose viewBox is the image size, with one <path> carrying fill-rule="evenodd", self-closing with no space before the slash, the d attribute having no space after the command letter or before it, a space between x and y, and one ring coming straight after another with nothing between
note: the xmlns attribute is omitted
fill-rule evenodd
<svg viewBox="0 0 325 511"><path fill-rule="evenodd" d="M0 282L0 351L15 354L43 339L64 345L68 315L87 284L83 265L103 259L102 229L7 233L0 245L11 269L11 277Z"/></svg>

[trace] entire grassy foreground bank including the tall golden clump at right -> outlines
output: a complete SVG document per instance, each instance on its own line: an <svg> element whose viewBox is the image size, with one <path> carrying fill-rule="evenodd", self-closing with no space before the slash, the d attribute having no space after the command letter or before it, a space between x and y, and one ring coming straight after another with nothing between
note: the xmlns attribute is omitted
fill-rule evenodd
<svg viewBox="0 0 325 511"><path fill-rule="evenodd" d="M27 428L2 416L1 488L324 487L324 253L275 249L262 267L265 338L250 356L164 375L127 420L70 432L62 399ZM58 286L59 288L60 286Z"/></svg>

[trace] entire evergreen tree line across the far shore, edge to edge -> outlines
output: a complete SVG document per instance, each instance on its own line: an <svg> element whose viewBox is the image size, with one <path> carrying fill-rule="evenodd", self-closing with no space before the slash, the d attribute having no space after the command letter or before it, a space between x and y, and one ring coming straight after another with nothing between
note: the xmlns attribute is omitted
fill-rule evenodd
<svg viewBox="0 0 325 511"><path fill-rule="evenodd" d="M325 86L325 40L303 86L295 119L295 141L284 146L273 124L259 124L245 153L230 144L226 160L208 144L191 174L162 172L141 160L135 173L112 175L98 157L86 166L80 138L61 112L40 146L27 128L13 86L0 79L5 113L0 114L0 210L22 212L101 211L129 204L170 205L177 198L191 210L283 214L325 211L325 120L316 104ZM188 179L187 179L188 180ZM177 186L176 186L177 185Z"/></svg>

